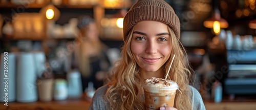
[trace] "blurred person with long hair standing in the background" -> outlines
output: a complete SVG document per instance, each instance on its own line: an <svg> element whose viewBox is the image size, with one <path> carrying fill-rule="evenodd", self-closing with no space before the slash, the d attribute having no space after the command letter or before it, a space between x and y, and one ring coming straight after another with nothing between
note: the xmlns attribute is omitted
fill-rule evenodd
<svg viewBox="0 0 256 110"><path fill-rule="evenodd" d="M108 47L101 42L99 30L94 19L90 16L78 18L78 37L75 49L75 68L80 70L82 75L83 90L93 82L97 89L103 84L103 78L110 67L110 61L106 56Z"/></svg>

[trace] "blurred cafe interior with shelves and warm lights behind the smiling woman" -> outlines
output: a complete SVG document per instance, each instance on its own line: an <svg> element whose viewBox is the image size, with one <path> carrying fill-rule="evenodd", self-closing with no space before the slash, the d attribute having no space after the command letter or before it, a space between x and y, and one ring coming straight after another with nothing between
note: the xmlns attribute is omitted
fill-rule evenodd
<svg viewBox="0 0 256 110"><path fill-rule="evenodd" d="M206 109L255 109L255 0L164 1L179 17L180 41L196 75L191 85ZM136 2L0 0L0 110L89 109L95 91L120 57L123 17ZM96 42L80 37L82 18L94 21L96 28L88 36L96 36ZM107 61L79 57L97 49L104 51L98 56ZM94 62L81 63L86 60ZM96 79L84 78L88 70Z"/></svg>

